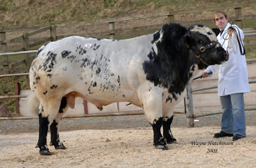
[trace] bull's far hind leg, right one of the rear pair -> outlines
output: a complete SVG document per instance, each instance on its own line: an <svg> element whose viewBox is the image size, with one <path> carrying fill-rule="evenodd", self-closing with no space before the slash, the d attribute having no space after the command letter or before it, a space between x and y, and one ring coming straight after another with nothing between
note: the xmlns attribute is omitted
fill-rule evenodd
<svg viewBox="0 0 256 168"><path fill-rule="evenodd" d="M59 136L59 127L60 127L60 121L62 116L65 114L67 111L68 106L67 106L67 97L63 97L61 99L61 104L60 104L60 109L58 112L58 115L56 118L54 118L50 130L51 130L51 143L50 145L54 145L54 148L56 150L66 150L67 148L64 146L63 143L60 141L60 136Z"/></svg>

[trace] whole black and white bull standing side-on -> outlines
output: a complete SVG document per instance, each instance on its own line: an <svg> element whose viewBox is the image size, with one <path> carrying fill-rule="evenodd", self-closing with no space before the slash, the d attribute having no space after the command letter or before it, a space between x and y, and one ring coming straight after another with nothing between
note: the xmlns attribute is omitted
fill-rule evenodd
<svg viewBox="0 0 256 168"><path fill-rule="evenodd" d="M186 84L200 69L225 60L216 34L198 24L189 29L166 24L154 34L124 40L71 36L42 46L29 72L40 154L51 155L48 127L51 144L66 149L58 126L76 97L99 109L113 102L142 107L154 130L154 146L168 150L166 143L176 141L170 129L173 108L184 97Z"/></svg>

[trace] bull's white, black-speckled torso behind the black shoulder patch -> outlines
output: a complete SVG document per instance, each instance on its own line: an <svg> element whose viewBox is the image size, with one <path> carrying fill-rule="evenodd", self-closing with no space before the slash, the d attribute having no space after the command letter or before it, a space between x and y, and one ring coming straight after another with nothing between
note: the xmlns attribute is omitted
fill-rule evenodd
<svg viewBox="0 0 256 168"><path fill-rule="evenodd" d="M88 101L132 100L138 105L136 90L145 79L142 62L152 47L151 38L72 36L49 43L31 65L31 89L41 98L77 92Z"/></svg>

